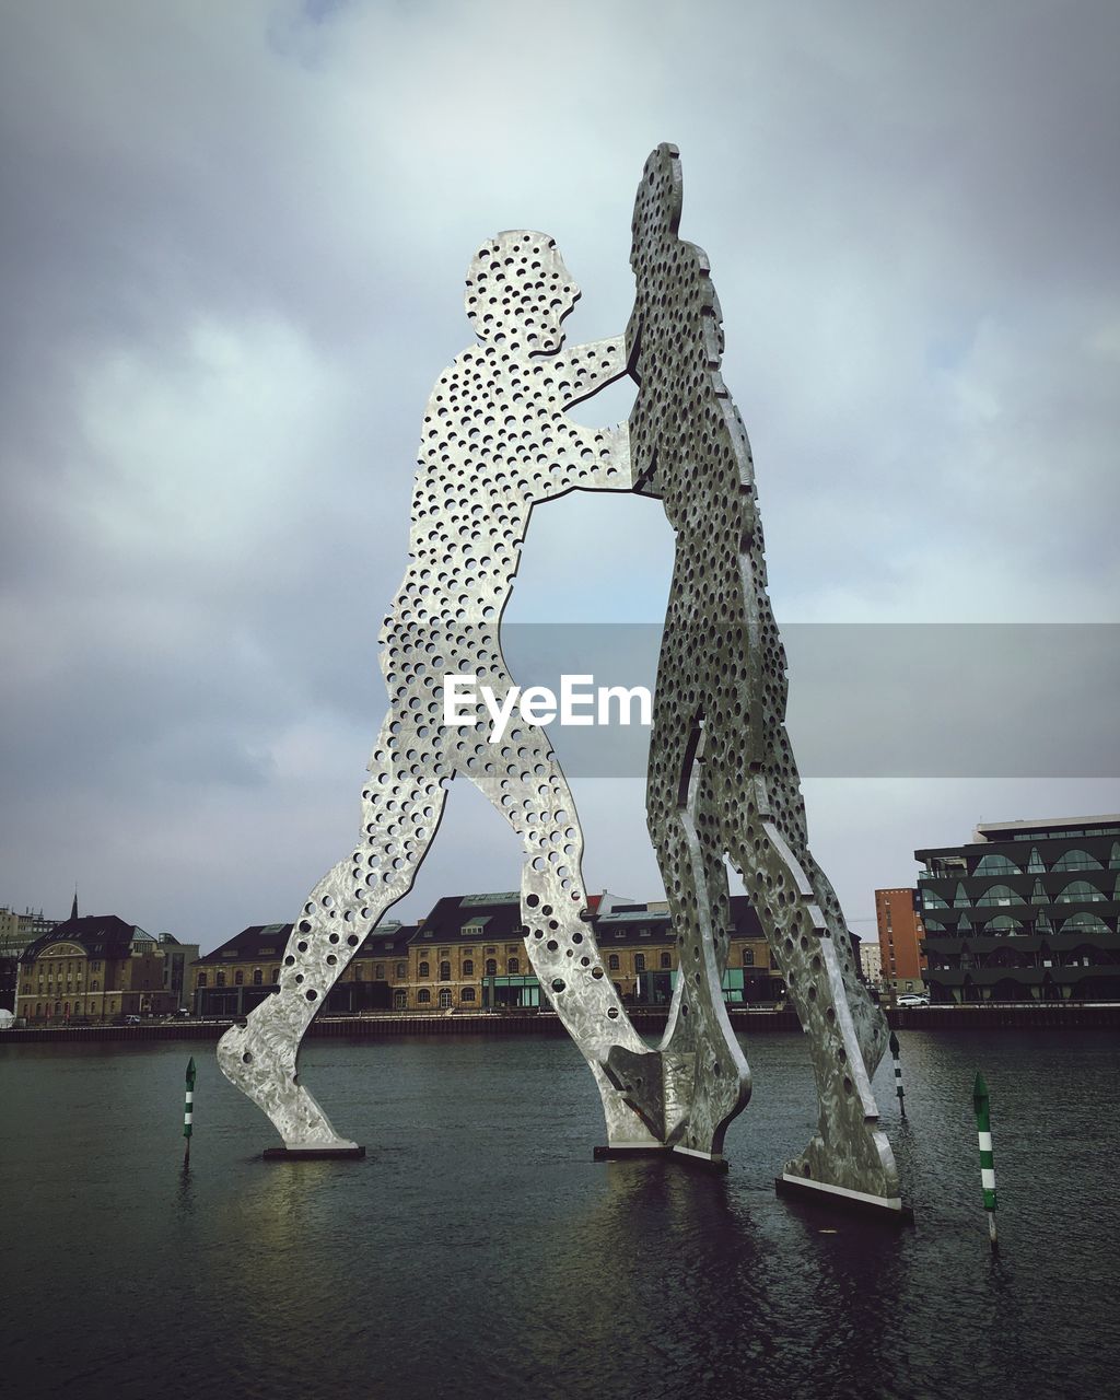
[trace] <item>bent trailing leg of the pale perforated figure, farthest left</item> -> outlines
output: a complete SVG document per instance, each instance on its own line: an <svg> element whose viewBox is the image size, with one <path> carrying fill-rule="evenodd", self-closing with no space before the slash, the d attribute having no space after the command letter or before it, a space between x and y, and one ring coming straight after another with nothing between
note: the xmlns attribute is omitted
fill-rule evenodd
<svg viewBox="0 0 1120 1400"><path fill-rule="evenodd" d="M363 792L360 843L304 904L284 951L280 990L218 1042L223 1074L265 1110L288 1149L354 1147L300 1084L300 1044L365 935L412 889L447 795L442 764L433 770L413 777L398 759L386 720Z"/></svg>

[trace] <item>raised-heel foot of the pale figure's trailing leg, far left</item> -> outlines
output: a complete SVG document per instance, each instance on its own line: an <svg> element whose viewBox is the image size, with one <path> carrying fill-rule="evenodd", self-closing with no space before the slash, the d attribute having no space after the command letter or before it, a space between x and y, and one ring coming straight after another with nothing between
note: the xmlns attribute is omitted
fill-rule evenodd
<svg viewBox="0 0 1120 1400"><path fill-rule="evenodd" d="M262 1005L269 1007L269 1002ZM295 1074L298 1042L279 1028L255 1023L231 1026L218 1042L218 1067L225 1078L262 1109L291 1151L347 1151L356 1142L340 1137L330 1120L302 1088ZM263 1018L262 1018L263 1019Z"/></svg>

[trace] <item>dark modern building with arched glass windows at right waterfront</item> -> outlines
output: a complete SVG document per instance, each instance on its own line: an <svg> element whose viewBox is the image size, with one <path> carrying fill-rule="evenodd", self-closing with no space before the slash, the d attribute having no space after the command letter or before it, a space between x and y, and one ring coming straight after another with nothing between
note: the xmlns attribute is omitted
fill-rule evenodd
<svg viewBox="0 0 1120 1400"><path fill-rule="evenodd" d="M1120 1001L1120 816L914 851L932 1001Z"/></svg>

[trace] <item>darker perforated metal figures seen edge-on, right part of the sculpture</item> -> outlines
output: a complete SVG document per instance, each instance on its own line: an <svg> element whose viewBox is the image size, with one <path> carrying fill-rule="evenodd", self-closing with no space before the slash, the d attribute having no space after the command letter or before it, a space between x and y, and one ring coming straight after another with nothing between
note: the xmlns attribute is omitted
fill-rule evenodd
<svg viewBox="0 0 1120 1400"><path fill-rule="evenodd" d="M630 416L636 487L664 501L676 535L647 788L680 969L661 1044L665 1138L717 1156L750 1095L721 995L729 860L784 973L816 1077L819 1131L783 1180L897 1207L871 1091L886 1023L809 853L750 445L720 374L724 336L707 258L678 237L680 204L680 158L661 146L634 206L627 357L640 384ZM620 1068L626 1058L613 1053Z"/></svg>

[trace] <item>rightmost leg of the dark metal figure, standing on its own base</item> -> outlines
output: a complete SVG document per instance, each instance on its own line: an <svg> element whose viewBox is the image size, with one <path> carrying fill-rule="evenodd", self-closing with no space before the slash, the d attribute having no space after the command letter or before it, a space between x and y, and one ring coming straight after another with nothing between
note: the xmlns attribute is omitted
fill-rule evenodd
<svg viewBox="0 0 1120 1400"><path fill-rule="evenodd" d="M783 1176L805 1187L897 1208L895 1156L878 1128L879 1110L832 931L805 871L777 827L762 819L760 829L762 840L750 850L731 833L731 855L755 899L805 1030L819 1103L818 1134L787 1162Z"/></svg>

